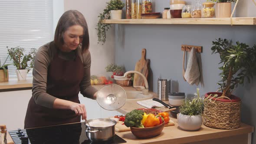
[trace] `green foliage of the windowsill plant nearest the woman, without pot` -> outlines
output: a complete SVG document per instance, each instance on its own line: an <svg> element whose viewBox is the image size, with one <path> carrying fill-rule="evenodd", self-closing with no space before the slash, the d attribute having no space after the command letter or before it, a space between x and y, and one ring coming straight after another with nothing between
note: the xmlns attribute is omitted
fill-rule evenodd
<svg viewBox="0 0 256 144"><path fill-rule="evenodd" d="M8 48L8 53L10 55L10 59L13 59L13 65L16 66L17 69L28 69L28 72L30 71L30 68L34 67L34 57L36 56L36 49L32 48L31 51L24 55L24 49L20 46L17 46L15 48ZM30 66L28 66L28 62L30 62Z"/></svg>

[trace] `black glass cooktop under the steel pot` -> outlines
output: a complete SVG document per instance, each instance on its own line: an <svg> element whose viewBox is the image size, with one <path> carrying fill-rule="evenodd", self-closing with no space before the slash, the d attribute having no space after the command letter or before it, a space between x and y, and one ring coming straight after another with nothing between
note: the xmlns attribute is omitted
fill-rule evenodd
<svg viewBox="0 0 256 144"><path fill-rule="evenodd" d="M15 144L121 144L124 139L115 134L115 137L106 142L90 141L86 137L86 126L83 122L64 124L43 128L31 128L9 131ZM26 142L27 138L29 139ZM21 141L23 139L23 141Z"/></svg>

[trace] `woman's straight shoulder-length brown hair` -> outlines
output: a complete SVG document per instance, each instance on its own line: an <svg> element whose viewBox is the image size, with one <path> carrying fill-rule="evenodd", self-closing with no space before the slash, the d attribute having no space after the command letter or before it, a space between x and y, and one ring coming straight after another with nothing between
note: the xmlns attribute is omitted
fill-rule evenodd
<svg viewBox="0 0 256 144"><path fill-rule="evenodd" d="M54 35L54 43L58 47L64 44L63 34L70 26L80 25L83 27L83 40L82 40L82 52L85 52L89 49L89 32L88 26L85 20L85 17L77 10L68 10L62 14L59 18L59 22L57 24L55 35Z"/></svg>

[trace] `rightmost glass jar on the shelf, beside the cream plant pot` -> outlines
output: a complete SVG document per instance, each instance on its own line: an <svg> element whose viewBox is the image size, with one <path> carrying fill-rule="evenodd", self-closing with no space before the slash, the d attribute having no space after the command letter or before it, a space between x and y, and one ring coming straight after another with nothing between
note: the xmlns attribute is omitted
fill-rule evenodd
<svg viewBox="0 0 256 144"><path fill-rule="evenodd" d="M214 3L212 2L203 3L201 13L202 13L202 17L214 17L215 16Z"/></svg>

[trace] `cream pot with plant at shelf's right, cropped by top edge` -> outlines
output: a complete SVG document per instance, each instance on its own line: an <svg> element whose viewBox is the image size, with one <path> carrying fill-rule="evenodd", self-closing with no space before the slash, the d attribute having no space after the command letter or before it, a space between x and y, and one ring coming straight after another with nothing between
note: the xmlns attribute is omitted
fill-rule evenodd
<svg viewBox="0 0 256 144"><path fill-rule="evenodd" d="M231 2L236 0L210 0L216 2L215 17L230 17L231 16Z"/></svg>

